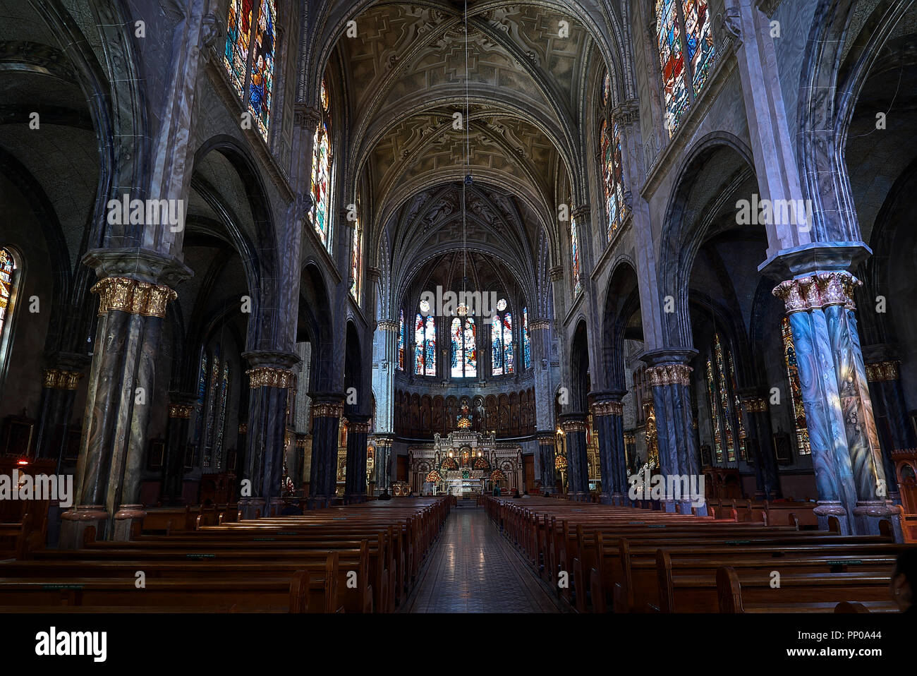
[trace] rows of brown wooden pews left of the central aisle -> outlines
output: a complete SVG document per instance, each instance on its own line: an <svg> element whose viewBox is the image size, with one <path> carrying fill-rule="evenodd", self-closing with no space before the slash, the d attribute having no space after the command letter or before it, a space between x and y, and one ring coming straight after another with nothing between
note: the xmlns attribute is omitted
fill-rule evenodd
<svg viewBox="0 0 917 676"><path fill-rule="evenodd" d="M0 612L392 612L452 504L404 498L216 519L127 542L96 541L89 529L83 549L0 561Z"/></svg>

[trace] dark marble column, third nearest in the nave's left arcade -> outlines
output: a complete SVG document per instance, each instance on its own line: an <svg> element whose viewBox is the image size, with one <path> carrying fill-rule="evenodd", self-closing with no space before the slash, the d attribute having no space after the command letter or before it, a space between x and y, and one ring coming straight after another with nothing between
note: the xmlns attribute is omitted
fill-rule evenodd
<svg viewBox="0 0 917 676"><path fill-rule="evenodd" d="M312 473L309 509L332 504L337 493L337 431L344 413L339 393L312 394Z"/></svg>

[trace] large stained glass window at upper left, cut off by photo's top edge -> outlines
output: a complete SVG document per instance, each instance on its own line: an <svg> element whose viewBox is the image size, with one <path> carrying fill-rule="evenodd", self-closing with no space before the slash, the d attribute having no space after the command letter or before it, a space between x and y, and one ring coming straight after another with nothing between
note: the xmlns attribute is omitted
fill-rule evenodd
<svg viewBox="0 0 917 676"><path fill-rule="evenodd" d="M247 101L255 126L265 140L271 126L276 17L274 0L229 0L223 65L236 94Z"/></svg>

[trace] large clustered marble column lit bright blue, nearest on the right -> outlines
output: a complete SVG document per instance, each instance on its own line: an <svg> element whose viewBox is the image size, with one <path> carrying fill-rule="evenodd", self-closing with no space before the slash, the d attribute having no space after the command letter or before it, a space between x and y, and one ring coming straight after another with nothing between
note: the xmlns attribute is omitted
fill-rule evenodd
<svg viewBox="0 0 917 676"><path fill-rule="evenodd" d="M879 522L887 520L900 537L900 507L888 500L852 312L856 283L849 272L814 272L780 283L774 295L790 318L820 526L836 516L842 532L868 534L878 533Z"/></svg>

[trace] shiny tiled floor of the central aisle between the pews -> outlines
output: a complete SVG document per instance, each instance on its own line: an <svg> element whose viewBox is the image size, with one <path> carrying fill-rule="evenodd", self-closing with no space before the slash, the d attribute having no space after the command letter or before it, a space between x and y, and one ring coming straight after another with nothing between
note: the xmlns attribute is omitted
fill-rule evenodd
<svg viewBox="0 0 917 676"><path fill-rule="evenodd" d="M482 509L449 515L403 613L558 613L525 561Z"/></svg>

